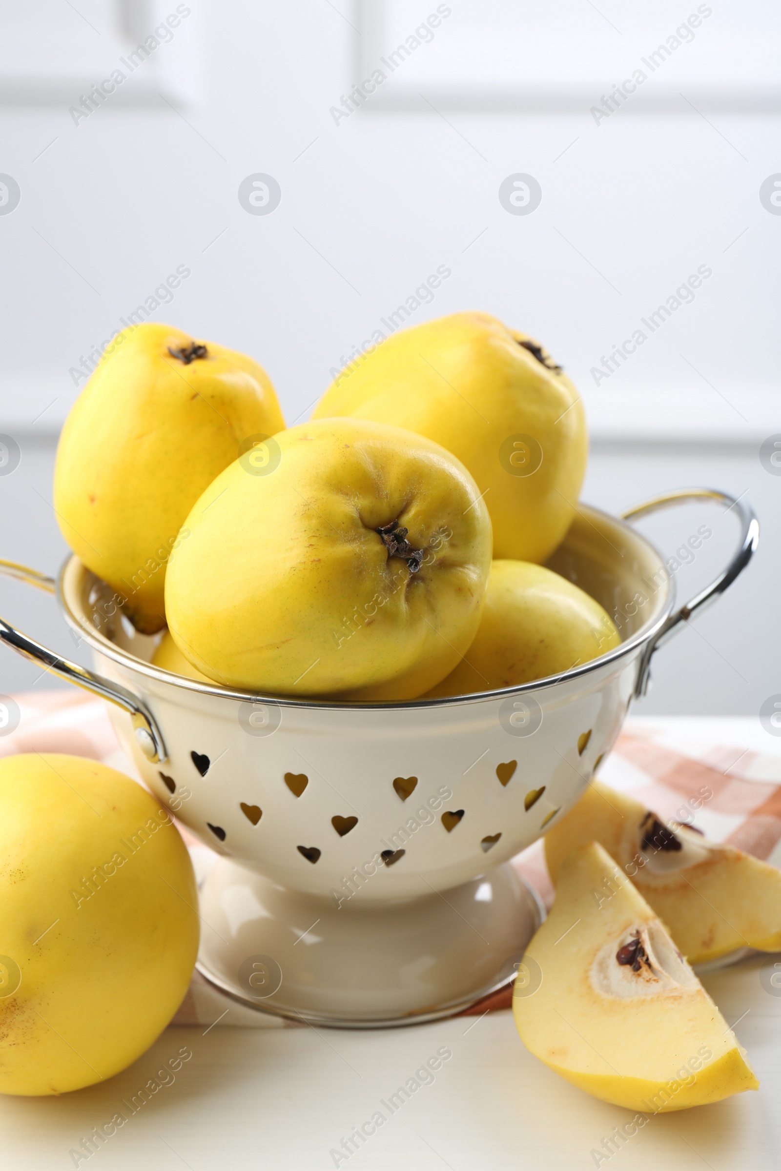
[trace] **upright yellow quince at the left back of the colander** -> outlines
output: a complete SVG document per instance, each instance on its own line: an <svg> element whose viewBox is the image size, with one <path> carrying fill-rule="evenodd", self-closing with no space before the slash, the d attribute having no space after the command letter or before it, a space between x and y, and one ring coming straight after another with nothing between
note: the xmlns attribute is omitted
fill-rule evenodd
<svg viewBox="0 0 781 1171"><path fill-rule="evenodd" d="M192 337L170 326L119 334L62 429L54 507L66 541L124 598L138 630L165 625L166 561L204 488L239 457L249 436L285 426L265 370L206 342L185 364Z"/></svg>

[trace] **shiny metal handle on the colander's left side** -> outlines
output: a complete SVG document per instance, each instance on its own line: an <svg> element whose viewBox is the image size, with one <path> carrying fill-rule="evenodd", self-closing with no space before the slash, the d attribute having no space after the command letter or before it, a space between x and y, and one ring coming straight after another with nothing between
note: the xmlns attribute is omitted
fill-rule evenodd
<svg viewBox="0 0 781 1171"><path fill-rule="evenodd" d="M29 569L27 566L20 566L15 561L4 561L0 557L0 574L34 586L46 594L56 594L57 590L53 577L47 577L46 574L40 574L36 569ZM111 683L102 676L95 674L94 671L88 671L87 667L78 666L77 663L71 663L69 659L55 655L47 646L42 646L41 643L36 643L35 639L28 638L21 630L12 626L5 618L0 618L0 642L11 646L18 655L23 655L25 658L40 663L47 671L59 674L61 679L67 679L68 683L74 683L77 687L83 687L84 691L91 691L93 694L100 696L101 699L108 699L109 703L116 704L117 707L128 712L132 720L138 747L146 759L152 763L165 760L165 744L159 728L138 697L133 696L131 691L122 687L118 683Z"/></svg>

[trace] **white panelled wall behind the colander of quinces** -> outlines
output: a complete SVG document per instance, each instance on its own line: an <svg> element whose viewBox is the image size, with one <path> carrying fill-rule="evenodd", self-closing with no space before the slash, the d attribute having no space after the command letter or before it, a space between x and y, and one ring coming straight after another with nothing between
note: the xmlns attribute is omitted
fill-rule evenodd
<svg viewBox="0 0 781 1171"><path fill-rule="evenodd" d="M651 73L642 59L697 4L441 7L433 39L391 74L381 59L433 0L192 0L130 74L121 57L173 0L0 2L0 173L21 194L2 214L0 189L0 431L21 448L0 475L0 554L57 568L50 477L76 368L178 265L191 275L152 316L252 354L293 423L445 263L452 276L412 321L479 308L544 342L587 400L585 500L617 512L707 484L753 504L755 564L659 656L644 710L756 713L781 691L781 477L759 457L781 432L781 215L760 200L781 172L781 13L769 0L700 5L711 14L693 40ZM69 108L116 68L126 80L75 122ZM386 81L335 121L331 107L377 68ZM597 124L590 108L637 68L648 80ZM238 198L259 172L282 192L268 215ZM519 172L542 190L528 215L499 200ZM712 276L696 300L595 385L602 356L701 265ZM704 520L714 537L678 575L683 594L728 556L732 515L685 509L645 526L669 553ZM0 601L80 657L43 596L4 584ZM0 672L1 691L39 676L8 652Z"/></svg>

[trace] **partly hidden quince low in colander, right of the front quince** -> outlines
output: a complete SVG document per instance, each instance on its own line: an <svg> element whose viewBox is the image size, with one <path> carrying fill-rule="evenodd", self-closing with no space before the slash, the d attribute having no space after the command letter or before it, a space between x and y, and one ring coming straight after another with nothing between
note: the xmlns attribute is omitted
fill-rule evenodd
<svg viewBox="0 0 781 1171"><path fill-rule="evenodd" d="M427 698L562 674L618 645L608 614L577 586L528 561L494 561L474 642Z"/></svg>

